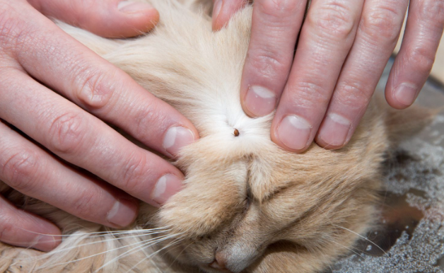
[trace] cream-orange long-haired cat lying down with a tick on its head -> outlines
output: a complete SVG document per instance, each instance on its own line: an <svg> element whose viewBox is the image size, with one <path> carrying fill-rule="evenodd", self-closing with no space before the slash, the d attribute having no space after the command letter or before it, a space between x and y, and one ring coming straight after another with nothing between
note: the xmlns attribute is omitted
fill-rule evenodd
<svg viewBox="0 0 444 273"><path fill-rule="evenodd" d="M284 151L270 139L273 114L250 118L240 105L252 6L214 33L212 1L149 2L160 23L134 39L58 25L194 123L201 139L173 162L185 187L113 231L0 182L5 197L64 234L49 253L0 243L0 272L310 273L346 255L378 215L381 164L417 111L373 99L344 148Z"/></svg>

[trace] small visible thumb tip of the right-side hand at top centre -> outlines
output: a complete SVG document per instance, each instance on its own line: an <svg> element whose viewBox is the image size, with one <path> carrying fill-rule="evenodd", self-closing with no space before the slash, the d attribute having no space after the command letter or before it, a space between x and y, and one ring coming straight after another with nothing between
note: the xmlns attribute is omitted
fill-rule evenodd
<svg viewBox="0 0 444 273"><path fill-rule="evenodd" d="M213 0L213 30L220 30L248 0Z"/></svg>

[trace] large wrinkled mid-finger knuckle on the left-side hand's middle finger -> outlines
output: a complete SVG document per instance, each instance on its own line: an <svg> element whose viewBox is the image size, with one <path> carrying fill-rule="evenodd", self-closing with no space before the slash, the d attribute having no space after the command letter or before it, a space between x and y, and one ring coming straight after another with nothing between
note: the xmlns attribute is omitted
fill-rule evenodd
<svg viewBox="0 0 444 273"><path fill-rule="evenodd" d="M57 153L74 153L86 137L85 120L81 113L67 112L52 121L49 145Z"/></svg>

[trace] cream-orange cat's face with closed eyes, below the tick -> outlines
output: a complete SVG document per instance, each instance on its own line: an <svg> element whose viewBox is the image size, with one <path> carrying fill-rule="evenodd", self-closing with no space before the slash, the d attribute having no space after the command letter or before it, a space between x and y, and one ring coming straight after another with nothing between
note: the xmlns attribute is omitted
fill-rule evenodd
<svg viewBox="0 0 444 273"><path fill-rule="evenodd" d="M183 238L170 254L206 272L240 272L254 262L280 268L271 265L282 255L290 265L337 257L355 239L347 230L362 233L373 215L385 144L381 124L366 125L341 151L313 144L303 154L288 153L269 136L242 129L188 146L177 162L187 174L185 188L156 217ZM267 255L278 257L261 265Z"/></svg>

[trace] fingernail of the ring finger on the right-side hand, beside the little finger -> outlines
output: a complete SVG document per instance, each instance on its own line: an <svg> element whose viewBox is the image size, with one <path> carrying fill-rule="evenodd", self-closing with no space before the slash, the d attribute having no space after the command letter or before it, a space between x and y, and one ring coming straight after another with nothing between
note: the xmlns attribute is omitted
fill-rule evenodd
<svg viewBox="0 0 444 273"><path fill-rule="evenodd" d="M319 132L319 137L326 144L343 146L347 141L351 129L351 121L341 115L330 113L325 117L324 124Z"/></svg>

